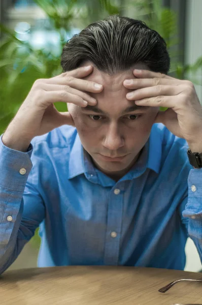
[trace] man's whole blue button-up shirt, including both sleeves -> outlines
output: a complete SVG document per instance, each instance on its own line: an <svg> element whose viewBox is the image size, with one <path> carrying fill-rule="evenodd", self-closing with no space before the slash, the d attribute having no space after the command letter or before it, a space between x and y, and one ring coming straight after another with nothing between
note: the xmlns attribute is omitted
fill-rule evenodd
<svg viewBox="0 0 202 305"><path fill-rule="evenodd" d="M2 135L3 136L3 135ZM154 124L117 182L95 168L75 127L35 137L26 153L0 138L0 273L40 226L38 266L184 269L190 236L202 260L202 169Z"/></svg>

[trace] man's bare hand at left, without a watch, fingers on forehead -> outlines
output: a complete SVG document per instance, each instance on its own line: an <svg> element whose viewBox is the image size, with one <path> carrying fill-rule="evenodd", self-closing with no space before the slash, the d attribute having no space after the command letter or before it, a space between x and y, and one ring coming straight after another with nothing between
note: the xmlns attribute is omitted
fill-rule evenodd
<svg viewBox="0 0 202 305"><path fill-rule="evenodd" d="M3 138L16 138L31 141L62 126L74 126L69 112L58 112L53 103L73 103L81 107L96 105L97 101L85 92L98 93L103 86L82 78L89 75L93 67L80 67L48 79L38 79L33 84L28 96L19 108L16 116L8 126ZM85 102L87 101L87 102Z"/></svg>

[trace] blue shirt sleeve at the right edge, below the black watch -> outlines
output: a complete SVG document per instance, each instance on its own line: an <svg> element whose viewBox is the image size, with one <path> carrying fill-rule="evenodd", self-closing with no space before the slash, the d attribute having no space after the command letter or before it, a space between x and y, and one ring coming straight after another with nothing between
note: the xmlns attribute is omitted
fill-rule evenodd
<svg viewBox="0 0 202 305"><path fill-rule="evenodd" d="M202 169L191 169L188 175L188 197L181 205L182 222L194 241L202 263Z"/></svg>

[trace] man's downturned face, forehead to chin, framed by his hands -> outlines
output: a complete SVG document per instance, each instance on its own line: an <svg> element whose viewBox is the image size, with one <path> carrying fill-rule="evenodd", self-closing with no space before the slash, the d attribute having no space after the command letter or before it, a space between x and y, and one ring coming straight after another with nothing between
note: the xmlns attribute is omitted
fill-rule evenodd
<svg viewBox="0 0 202 305"><path fill-rule="evenodd" d="M82 66L89 64L88 62ZM104 87L101 93L87 92L97 100L97 104L84 108L68 103L68 110L84 149L92 157L95 166L115 180L126 174L138 159L159 110L159 107L126 110L136 104L126 99L126 94L131 90L124 87L123 81L134 78L132 71L136 68L147 69L139 64L110 76L93 67L93 72L85 79ZM103 156L124 157L113 160Z"/></svg>

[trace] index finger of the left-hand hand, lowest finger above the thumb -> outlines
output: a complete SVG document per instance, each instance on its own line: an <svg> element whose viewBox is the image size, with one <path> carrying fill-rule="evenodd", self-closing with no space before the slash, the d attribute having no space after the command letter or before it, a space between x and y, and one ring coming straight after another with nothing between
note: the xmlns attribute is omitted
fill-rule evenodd
<svg viewBox="0 0 202 305"><path fill-rule="evenodd" d="M51 103L56 102L64 102L64 103L72 103L81 107L86 107L87 102L84 101L81 97L71 94L69 92L66 92L64 90L59 91L46 91L43 101L47 103L47 105L50 105Z"/></svg>

